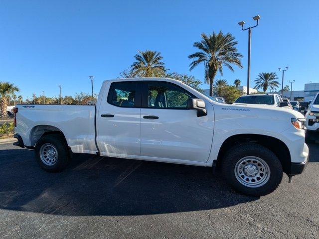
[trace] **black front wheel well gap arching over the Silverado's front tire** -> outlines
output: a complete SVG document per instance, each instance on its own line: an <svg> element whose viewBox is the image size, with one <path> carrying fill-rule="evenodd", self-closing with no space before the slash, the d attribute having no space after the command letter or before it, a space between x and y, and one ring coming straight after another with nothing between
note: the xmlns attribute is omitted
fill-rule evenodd
<svg viewBox="0 0 319 239"><path fill-rule="evenodd" d="M280 160L283 171L285 173L290 172L291 155L287 145L278 138L262 134L236 134L228 137L219 149L216 167L219 168L221 166L223 158L230 148L249 142L260 144L271 150Z"/></svg>

